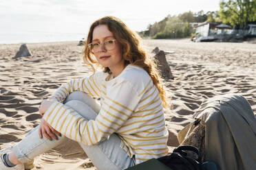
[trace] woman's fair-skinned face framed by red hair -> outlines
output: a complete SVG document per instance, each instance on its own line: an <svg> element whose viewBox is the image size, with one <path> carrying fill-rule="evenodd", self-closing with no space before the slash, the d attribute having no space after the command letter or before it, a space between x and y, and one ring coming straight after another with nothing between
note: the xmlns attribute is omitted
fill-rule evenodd
<svg viewBox="0 0 256 170"><path fill-rule="evenodd" d="M106 42L114 42L114 48L106 49L105 45L103 45L104 42L105 45L107 45ZM100 65L109 67L112 72L124 67L125 61L122 58L122 47L115 39L114 34L109 31L107 25L98 25L94 28L92 44L95 45L94 49L96 49L96 45L98 46L98 50L94 50L94 56Z"/></svg>

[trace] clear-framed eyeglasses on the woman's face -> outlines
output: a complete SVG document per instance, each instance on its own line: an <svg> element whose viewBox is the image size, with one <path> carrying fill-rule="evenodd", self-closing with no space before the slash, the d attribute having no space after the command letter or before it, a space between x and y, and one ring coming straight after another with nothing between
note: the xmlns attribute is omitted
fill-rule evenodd
<svg viewBox="0 0 256 170"><path fill-rule="evenodd" d="M96 53L100 51L101 45L103 45L104 49L106 50L112 50L116 47L116 39L111 39L111 40L105 40L102 43L99 42L92 42L89 43L89 50L92 51L92 53Z"/></svg>

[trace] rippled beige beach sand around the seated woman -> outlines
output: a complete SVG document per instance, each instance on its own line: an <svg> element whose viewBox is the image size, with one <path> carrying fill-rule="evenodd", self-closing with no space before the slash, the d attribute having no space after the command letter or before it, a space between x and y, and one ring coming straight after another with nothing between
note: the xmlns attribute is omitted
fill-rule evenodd
<svg viewBox="0 0 256 170"><path fill-rule="evenodd" d="M239 93L256 114L256 42L195 43L182 40L143 40L150 56L159 47L167 54L174 80L166 83L173 108L165 114L170 151L177 133L190 121L204 99ZM41 100L70 79L91 74L83 64L78 42L27 44L32 56L13 59L19 45L0 45L0 149L21 141L39 125ZM35 158L37 169L96 169L83 149L67 141Z"/></svg>

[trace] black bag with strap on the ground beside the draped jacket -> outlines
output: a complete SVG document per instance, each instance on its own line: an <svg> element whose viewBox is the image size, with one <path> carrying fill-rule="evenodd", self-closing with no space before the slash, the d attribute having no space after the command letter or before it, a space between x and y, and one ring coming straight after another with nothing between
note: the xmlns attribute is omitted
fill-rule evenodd
<svg viewBox="0 0 256 170"><path fill-rule="evenodd" d="M185 151L193 151L193 153L197 154L198 158L191 158ZM203 164L202 157L198 148L190 145L179 146L173 150L171 155L163 156L158 158L158 160L173 170L217 169L213 162L205 162Z"/></svg>

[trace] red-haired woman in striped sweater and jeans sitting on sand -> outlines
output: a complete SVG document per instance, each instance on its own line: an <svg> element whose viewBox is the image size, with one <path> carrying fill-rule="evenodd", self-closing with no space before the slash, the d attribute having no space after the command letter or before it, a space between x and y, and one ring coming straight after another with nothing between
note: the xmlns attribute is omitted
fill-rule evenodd
<svg viewBox="0 0 256 170"><path fill-rule="evenodd" d="M12 151L1 151L1 169L22 169L14 165L66 137L83 147L97 169L127 169L167 155L163 106L168 104L156 64L138 36L120 19L106 16L90 27L84 52L87 64L104 70L71 80L44 100L41 124ZM92 97L100 98L100 106Z"/></svg>

